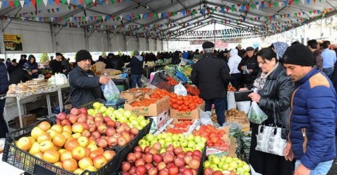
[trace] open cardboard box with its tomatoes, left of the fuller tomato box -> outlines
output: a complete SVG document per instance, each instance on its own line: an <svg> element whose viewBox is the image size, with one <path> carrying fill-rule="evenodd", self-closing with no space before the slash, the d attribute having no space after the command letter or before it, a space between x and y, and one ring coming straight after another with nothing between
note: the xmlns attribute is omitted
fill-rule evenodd
<svg viewBox="0 0 337 175"><path fill-rule="evenodd" d="M137 116L158 116L165 111L165 101L168 99L169 97L150 98L145 96L125 103L124 109Z"/></svg>

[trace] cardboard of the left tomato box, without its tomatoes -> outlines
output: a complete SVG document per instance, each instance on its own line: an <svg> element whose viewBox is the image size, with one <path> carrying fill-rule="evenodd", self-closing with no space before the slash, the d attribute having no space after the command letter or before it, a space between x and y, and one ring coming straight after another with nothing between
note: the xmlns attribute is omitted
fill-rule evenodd
<svg viewBox="0 0 337 175"><path fill-rule="evenodd" d="M161 114L164 110L164 101L166 98L169 97L163 97L162 99L158 100L156 103L150 104L149 106L141 106L141 107L132 107L130 104L135 101L132 100L129 103L124 104L124 109L131 111L133 114L137 116L158 116ZM139 99L136 99L139 100Z"/></svg>

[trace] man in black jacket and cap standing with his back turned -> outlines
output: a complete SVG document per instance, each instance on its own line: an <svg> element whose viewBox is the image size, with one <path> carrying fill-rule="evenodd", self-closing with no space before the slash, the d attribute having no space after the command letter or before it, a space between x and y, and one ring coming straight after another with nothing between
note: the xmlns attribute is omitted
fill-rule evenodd
<svg viewBox="0 0 337 175"><path fill-rule="evenodd" d="M225 61L215 57L214 43L204 42L205 55L193 65L191 79L200 90L200 97L205 100L205 111L211 111L214 104L220 126L225 122L227 104L227 86L230 82L230 70Z"/></svg>

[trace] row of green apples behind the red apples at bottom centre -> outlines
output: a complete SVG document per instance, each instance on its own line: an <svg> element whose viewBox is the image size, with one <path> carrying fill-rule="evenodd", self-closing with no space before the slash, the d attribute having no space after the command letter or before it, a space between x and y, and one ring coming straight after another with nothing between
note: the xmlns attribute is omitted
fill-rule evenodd
<svg viewBox="0 0 337 175"><path fill-rule="evenodd" d="M147 134L142 139L138 141L138 145L145 149L146 146L153 146L155 143L159 142L161 144L162 150L160 153L165 152L165 148L169 145L173 145L174 148L182 147L184 152L199 150L203 151L205 148L207 139L202 136L194 136L193 134L188 134L187 136L183 134L173 134L173 133L159 133L157 136L153 134Z"/></svg>

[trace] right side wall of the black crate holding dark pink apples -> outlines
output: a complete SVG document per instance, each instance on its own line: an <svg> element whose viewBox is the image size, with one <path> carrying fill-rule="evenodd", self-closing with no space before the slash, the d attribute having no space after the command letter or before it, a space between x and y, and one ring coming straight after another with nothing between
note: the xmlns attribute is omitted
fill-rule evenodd
<svg viewBox="0 0 337 175"><path fill-rule="evenodd" d="M127 143L124 147L114 146L114 148L120 150L119 161L117 162L115 171L118 171L120 169L123 161L126 159L127 154L129 154L138 145L138 141L142 139L143 136L146 136L150 132L153 119L148 118L148 120L150 122L142 130L140 130L139 133L135 137L133 137L133 139L129 143Z"/></svg>

